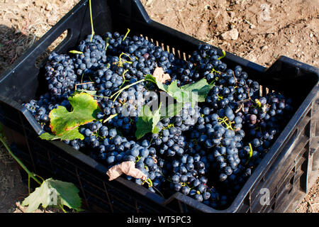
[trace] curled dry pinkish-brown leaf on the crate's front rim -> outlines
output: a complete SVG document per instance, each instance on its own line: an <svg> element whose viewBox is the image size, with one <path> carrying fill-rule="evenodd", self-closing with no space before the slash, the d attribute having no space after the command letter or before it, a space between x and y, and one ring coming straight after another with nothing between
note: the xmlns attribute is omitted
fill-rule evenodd
<svg viewBox="0 0 319 227"><path fill-rule="evenodd" d="M108 172L106 172L106 175L108 175L109 179L108 180L113 180L118 177L120 177L122 174L134 177L134 178L142 178L146 179L146 175L135 168L135 162L132 161L127 161L127 162L121 162L118 165L114 165L111 167Z"/></svg>

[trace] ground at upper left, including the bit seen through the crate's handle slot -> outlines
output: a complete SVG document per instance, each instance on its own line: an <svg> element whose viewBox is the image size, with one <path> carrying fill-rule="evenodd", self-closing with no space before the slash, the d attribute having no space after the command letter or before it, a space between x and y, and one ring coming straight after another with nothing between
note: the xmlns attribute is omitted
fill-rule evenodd
<svg viewBox="0 0 319 227"><path fill-rule="evenodd" d="M0 74L41 38L79 0L1 0L0 1ZM38 57L40 63L66 37L60 35Z"/></svg>

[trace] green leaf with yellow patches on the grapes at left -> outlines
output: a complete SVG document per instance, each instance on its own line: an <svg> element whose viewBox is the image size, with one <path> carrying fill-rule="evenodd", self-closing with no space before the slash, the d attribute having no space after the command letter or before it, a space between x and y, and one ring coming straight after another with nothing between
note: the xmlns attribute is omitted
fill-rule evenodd
<svg viewBox="0 0 319 227"><path fill-rule="evenodd" d="M50 128L55 135L62 135L78 126L97 120L96 114L101 111L97 101L87 93L75 94L69 97L73 111L65 106L58 106L50 111Z"/></svg>

